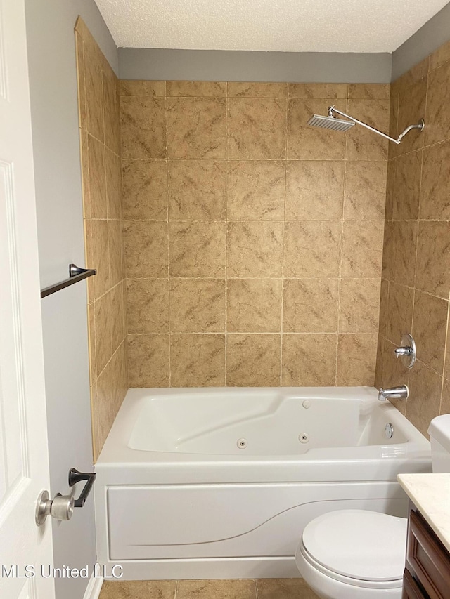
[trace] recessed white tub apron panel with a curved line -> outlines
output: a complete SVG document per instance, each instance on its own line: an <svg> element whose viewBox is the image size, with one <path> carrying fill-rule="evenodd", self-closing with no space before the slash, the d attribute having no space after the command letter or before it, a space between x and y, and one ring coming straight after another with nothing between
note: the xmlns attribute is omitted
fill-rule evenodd
<svg viewBox="0 0 450 599"><path fill-rule="evenodd" d="M346 508L404 516L407 499L394 482L111 487L110 559L293 555L309 520Z"/></svg>

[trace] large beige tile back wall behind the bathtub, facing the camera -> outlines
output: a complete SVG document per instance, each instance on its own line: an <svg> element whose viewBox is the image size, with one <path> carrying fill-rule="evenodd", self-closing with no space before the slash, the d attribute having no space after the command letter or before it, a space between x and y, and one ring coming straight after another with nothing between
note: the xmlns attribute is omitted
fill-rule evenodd
<svg viewBox="0 0 450 599"><path fill-rule="evenodd" d="M389 85L120 81L129 384L373 385Z"/></svg>

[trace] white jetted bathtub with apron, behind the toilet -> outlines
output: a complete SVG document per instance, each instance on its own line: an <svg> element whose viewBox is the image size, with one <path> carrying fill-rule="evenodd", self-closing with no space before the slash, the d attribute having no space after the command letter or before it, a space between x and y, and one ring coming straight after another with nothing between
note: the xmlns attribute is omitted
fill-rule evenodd
<svg viewBox="0 0 450 599"><path fill-rule="evenodd" d="M312 518L406 516L397 474L429 471L430 443L374 388L130 389L96 463L98 561L124 579L295 577Z"/></svg>

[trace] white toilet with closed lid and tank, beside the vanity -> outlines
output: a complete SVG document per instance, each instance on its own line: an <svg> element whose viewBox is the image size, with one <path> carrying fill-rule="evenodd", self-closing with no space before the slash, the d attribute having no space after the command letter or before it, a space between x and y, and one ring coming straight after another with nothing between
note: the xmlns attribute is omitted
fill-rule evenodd
<svg viewBox="0 0 450 599"><path fill-rule="evenodd" d="M450 472L450 414L428 433L433 472ZM366 510L328 512L304 527L295 562L321 599L400 599L407 524Z"/></svg>

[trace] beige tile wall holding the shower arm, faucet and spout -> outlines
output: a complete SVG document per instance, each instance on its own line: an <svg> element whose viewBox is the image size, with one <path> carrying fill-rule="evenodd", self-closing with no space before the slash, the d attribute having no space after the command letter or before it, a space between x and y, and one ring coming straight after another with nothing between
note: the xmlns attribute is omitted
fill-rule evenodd
<svg viewBox="0 0 450 599"><path fill-rule="evenodd" d="M380 341L376 382L409 384L397 407L426 434L450 412L450 43L392 84L392 134L425 119L425 131L390 146ZM413 334L418 362L406 370L393 350Z"/></svg>

